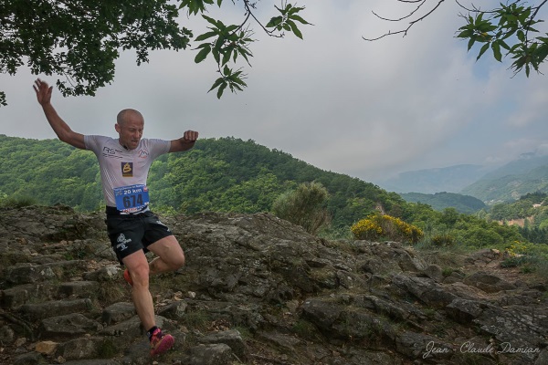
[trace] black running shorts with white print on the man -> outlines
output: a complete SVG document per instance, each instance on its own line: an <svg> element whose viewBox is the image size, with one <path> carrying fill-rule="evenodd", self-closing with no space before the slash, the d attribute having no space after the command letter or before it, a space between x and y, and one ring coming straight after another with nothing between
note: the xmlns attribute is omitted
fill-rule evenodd
<svg viewBox="0 0 548 365"><path fill-rule="evenodd" d="M164 237L173 235L167 225L153 212L140 214L107 214L107 233L112 249L121 262L122 258L143 250Z"/></svg>

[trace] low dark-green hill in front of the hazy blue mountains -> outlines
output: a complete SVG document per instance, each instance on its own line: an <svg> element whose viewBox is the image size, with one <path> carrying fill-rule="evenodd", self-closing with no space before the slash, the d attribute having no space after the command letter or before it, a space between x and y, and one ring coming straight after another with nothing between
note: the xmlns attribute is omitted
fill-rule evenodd
<svg viewBox="0 0 548 365"><path fill-rule="evenodd" d="M437 211L446 208L455 208L459 213L474 214L486 207L485 203L469 195L458 193L400 193L401 197L409 203L424 203Z"/></svg>

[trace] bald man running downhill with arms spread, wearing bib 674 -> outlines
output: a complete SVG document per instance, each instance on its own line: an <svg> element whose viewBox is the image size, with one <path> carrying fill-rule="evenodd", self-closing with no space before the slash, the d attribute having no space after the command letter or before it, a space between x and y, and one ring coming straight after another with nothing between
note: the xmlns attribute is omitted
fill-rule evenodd
<svg viewBox="0 0 548 365"><path fill-rule="evenodd" d="M51 105L53 87L37 78L33 88L38 103L60 141L90 150L99 160L102 191L107 203L107 231L112 249L126 266L125 280L132 286L132 299L151 342L151 355L162 354L174 345L174 337L156 326L149 276L179 269L184 253L169 228L149 208L146 179L154 159L163 153L187 151L198 138L186 130L173 140L142 139L144 119L137 110L121 110L114 129L118 138L83 135L68 127ZM156 257L149 263L145 253Z"/></svg>

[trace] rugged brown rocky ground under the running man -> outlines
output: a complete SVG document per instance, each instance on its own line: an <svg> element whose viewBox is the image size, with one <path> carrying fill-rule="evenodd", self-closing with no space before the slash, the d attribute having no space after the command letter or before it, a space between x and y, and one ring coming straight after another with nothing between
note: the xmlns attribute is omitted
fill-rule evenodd
<svg viewBox="0 0 548 365"><path fill-rule="evenodd" d="M0 363L548 364L547 283L501 253L326 241L269 214L164 217L183 269L153 276L151 358L103 214L0 210Z"/></svg>

